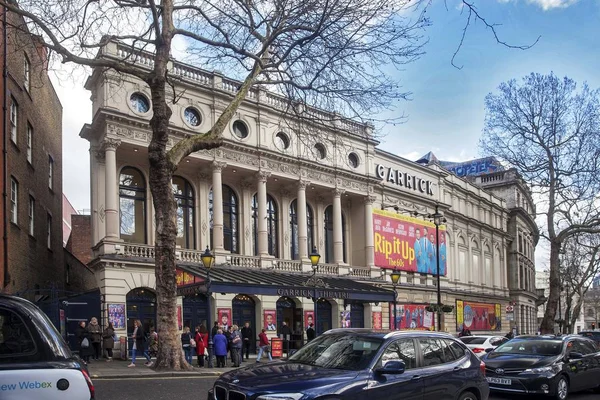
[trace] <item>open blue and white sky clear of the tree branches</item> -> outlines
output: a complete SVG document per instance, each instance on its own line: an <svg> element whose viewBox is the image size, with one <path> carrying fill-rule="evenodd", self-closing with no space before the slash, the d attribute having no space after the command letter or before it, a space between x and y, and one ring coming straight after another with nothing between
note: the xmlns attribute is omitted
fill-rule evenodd
<svg viewBox="0 0 600 400"><path fill-rule="evenodd" d="M498 44L482 23L474 23L456 56L455 64L462 67L458 69L451 60L466 13L459 0L433 0L426 54L395 72L402 90L412 93L411 100L381 115L407 116L404 123L383 129L387 151L411 160L428 151L448 161L483 156L478 141L485 96L500 83L531 72L554 72L600 87L600 0L473 1L490 24L498 24L500 40L516 46L539 41L528 50L510 49ZM92 119L85 78L83 70L52 77L63 105L63 191L77 210L90 208L89 145L79 138L82 126Z"/></svg>

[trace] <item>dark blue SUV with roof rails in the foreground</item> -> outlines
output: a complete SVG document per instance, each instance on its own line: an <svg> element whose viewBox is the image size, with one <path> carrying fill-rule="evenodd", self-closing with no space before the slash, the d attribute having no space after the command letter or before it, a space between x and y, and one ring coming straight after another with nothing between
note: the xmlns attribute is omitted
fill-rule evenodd
<svg viewBox="0 0 600 400"><path fill-rule="evenodd" d="M449 334L332 329L287 361L232 370L209 400L487 400L485 364Z"/></svg>

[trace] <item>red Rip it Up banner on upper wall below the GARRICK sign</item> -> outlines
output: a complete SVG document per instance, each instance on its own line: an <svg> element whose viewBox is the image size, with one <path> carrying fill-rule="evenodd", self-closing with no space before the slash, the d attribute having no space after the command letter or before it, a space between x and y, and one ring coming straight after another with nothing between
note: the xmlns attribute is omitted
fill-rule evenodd
<svg viewBox="0 0 600 400"><path fill-rule="evenodd" d="M373 210L375 265L437 275L435 225L429 221ZM440 274L446 275L446 227L440 226Z"/></svg>

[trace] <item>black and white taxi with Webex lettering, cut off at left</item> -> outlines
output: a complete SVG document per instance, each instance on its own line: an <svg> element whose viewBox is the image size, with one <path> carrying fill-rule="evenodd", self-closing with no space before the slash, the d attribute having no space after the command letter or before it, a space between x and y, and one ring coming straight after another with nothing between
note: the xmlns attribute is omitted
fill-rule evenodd
<svg viewBox="0 0 600 400"><path fill-rule="evenodd" d="M0 399L94 399L87 367L36 305L0 294L0 326Z"/></svg>

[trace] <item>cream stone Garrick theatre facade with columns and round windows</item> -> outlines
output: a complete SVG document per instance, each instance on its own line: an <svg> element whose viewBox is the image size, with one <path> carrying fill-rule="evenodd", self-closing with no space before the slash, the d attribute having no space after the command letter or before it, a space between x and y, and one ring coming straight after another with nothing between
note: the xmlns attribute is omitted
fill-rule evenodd
<svg viewBox="0 0 600 400"><path fill-rule="evenodd" d="M110 43L100 56L128 55L130 48ZM148 65L143 54L137 60ZM239 82L176 61L170 71L180 97L172 105L173 146L209 129ZM86 88L94 111L81 131L90 143L90 267L108 318L125 334L135 319L156 322L151 97L143 82L110 71L94 71ZM206 323L210 313L220 324L249 322L254 332L275 335L285 321L301 343L316 310L318 332L389 329L394 320L399 329L434 329L439 271L441 302L452 306L443 330L464 324L473 333L506 333L515 239L506 201L437 163L384 151L368 125L323 114L334 122L315 122L310 134L292 129L285 104L253 89L225 144L190 155L173 178L179 327ZM445 218L438 246L430 219L436 205ZM207 247L216 256L210 310L200 259ZM316 271L313 248L321 255ZM523 324L521 332L536 328Z"/></svg>

